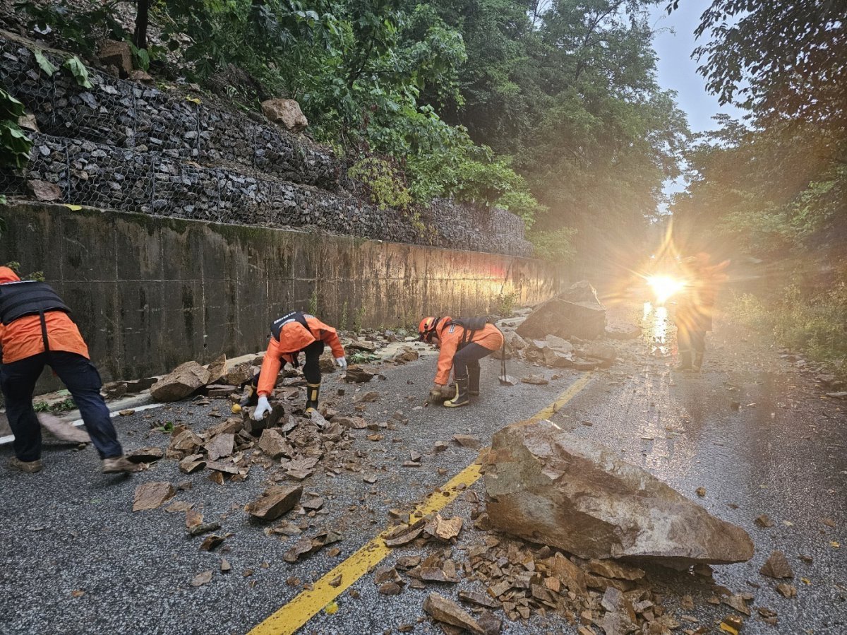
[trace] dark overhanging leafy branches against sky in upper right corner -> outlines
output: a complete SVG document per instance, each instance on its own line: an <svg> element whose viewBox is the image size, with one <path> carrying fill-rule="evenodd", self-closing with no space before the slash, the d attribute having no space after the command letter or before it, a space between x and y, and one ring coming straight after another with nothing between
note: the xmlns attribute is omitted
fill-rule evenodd
<svg viewBox="0 0 847 635"><path fill-rule="evenodd" d="M772 122L847 130L839 79L847 68L844 3L714 0L695 31L706 34L711 39L695 56L720 103L739 103Z"/></svg>

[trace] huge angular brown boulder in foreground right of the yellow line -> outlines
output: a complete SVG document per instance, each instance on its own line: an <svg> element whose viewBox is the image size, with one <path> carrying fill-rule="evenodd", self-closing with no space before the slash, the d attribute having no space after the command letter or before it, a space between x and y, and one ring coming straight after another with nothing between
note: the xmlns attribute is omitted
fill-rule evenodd
<svg viewBox="0 0 847 635"><path fill-rule="evenodd" d="M671 566L753 556L743 529L710 515L617 451L550 421L494 436L485 471L496 529L585 559L637 558Z"/></svg>

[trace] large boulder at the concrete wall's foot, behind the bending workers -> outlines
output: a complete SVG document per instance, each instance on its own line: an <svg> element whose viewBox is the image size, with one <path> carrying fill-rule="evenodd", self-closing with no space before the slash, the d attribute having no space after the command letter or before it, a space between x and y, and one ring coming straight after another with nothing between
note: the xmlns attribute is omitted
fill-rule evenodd
<svg viewBox="0 0 847 635"><path fill-rule="evenodd" d="M517 329L524 339L548 335L594 339L606 332L606 309L588 281L579 281L535 307Z"/></svg>

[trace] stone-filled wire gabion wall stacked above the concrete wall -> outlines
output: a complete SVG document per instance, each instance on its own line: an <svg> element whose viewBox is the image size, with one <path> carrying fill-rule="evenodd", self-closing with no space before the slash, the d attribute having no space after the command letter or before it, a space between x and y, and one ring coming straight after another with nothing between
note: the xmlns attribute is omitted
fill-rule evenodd
<svg viewBox="0 0 847 635"><path fill-rule="evenodd" d="M55 66L64 58L45 53ZM357 237L527 256L523 221L501 209L436 201L427 231L406 214L352 196L327 149L267 121L89 70L47 77L29 47L0 37L0 84L34 114L30 164L0 171L0 192L28 181L59 188L59 202L195 220L313 226ZM252 115L261 119L259 115Z"/></svg>

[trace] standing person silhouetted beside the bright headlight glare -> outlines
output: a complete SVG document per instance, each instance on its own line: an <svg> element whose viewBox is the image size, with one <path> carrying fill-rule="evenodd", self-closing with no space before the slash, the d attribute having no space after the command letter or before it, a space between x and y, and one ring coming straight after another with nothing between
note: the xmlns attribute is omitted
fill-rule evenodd
<svg viewBox="0 0 847 635"><path fill-rule="evenodd" d="M682 261L685 288L676 312L679 364L675 370L699 371L706 353L706 332L711 331L715 299L728 261L709 265L708 253L698 253Z"/></svg>

